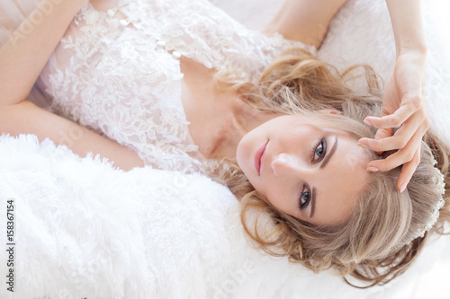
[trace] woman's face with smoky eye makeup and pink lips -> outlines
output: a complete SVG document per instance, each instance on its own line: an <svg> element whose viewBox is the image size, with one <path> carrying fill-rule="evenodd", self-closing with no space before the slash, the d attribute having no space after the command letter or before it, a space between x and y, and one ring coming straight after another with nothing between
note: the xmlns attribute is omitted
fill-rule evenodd
<svg viewBox="0 0 450 299"><path fill-rule="evenodd" d="M338 224L365 186L369 155L347 132L317 128L308 118L282 116L250 131L238 144L238 164L279 210L311 224Z"/></svg>

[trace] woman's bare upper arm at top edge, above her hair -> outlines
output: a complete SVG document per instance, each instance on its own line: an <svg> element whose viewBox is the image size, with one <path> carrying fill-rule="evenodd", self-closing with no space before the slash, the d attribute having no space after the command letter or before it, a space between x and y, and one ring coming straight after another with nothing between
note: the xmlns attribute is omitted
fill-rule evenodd
<svg viewBox="0 0 450 299"><path fill-rule="evenodd" d="M287 40L298 40L320 48L329 22L347 0L285 0L280 11L263 31L280 33Z"/></svg>

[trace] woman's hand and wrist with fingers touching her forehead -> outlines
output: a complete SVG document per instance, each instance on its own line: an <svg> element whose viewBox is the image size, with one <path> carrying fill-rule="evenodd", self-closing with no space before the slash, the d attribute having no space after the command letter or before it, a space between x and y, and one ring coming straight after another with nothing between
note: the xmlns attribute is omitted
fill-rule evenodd
<svg viewBox="0 0 450 299"><path fill-rule="evenodd" d="M367 164L368 171L389 171L403 164L397 180L402 192L420 161L421 140L428 130L427 103L423 96L426 49L406 49L400 52L392 79L383 96L381 117L367 117L365 123L378 128L375 138L362 138L358 145L382 154L395 150L383 160ZM394 128L398 128L395 133Z"/></svg>

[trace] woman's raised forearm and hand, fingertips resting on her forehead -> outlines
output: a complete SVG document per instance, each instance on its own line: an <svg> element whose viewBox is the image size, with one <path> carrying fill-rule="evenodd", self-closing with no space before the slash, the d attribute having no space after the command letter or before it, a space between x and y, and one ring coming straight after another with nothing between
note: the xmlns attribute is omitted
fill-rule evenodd
<svg viewBox="0 0 450 299"><path fill-rule="evenodd" d="M399 149L384 160L367 167L389 171L403 165L397 188L403 191L420 161L421 140L428 130L427 103L423 95L427 46L423 30L420 0L386 0L395 36L397 61L394 74L383 96L381 117L365 119L378 128L375 139L360 143L383 152ZM392 136L394 128L399 128Z"/></svg>

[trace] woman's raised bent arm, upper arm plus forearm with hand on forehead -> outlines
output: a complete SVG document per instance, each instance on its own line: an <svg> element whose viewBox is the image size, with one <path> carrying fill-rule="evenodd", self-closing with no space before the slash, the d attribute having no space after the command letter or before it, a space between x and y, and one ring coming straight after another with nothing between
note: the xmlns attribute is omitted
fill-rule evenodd
<svg viewBox="0 0 450 299"><path fill-rule="evenodd" d="M320 48L332 16L344 3L286 0L265 32L269 35L279 32L286 39L300 40ZM392 21L397 60L383 95L382 115L365 119L366 124L378 128L375 138L362 138L358 144L377 154L399 150L386 159L368 163L367 171L390 171L403 165L397 180L397 188L402 192L419 165L421 139L429 126L423 95L427 45L420 0L386 0L386 4ZM323 7L328 8L324 10ZM318 16L319 20L315 20ZM304 36L299 28L308 28L311 35ZM401 128L392 136L394 128L398 127Z"/></svg>

